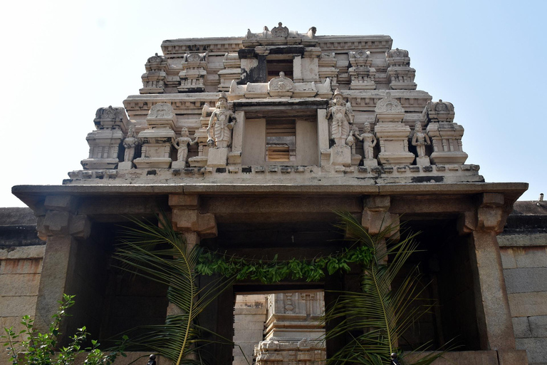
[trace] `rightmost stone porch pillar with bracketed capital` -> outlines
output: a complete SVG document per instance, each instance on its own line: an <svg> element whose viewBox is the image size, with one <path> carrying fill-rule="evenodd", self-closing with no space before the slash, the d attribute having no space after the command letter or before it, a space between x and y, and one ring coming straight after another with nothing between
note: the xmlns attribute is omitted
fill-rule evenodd
<svg viewBox="0 0 547 365"><path fill-rule="evenodd" d="M485 192L479 197L476 210L465 212L459 220L460 234L469 234L481 350L515 349L509 299L496 239L504 229L510 208L505 204L503 194ZM526 362L519 361L518 364Z"/></svg>

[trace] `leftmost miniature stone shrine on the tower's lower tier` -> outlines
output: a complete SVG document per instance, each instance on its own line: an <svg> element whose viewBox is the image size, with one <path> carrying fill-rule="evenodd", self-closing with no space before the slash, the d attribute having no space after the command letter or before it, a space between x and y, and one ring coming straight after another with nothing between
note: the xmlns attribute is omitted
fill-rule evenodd
<svg viewBox="0 0 547 365"><path fill-rule="evenodd" d="M89 157L82 160L85 170L113 169L119 163L118 152L127 130L127 115L124 108L98 108L95 114L95 128L85 138L89 144Z"/></svg>

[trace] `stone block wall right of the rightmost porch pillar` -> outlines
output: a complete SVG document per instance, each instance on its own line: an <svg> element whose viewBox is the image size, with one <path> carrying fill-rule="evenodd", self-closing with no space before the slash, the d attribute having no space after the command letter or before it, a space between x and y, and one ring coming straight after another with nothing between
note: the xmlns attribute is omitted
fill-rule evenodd
<svg viewBox="0 0 547 365"><path fill-rule="evenodd" d="M516 202L498 237L516 348L547 364L547 204Z"/></svg>

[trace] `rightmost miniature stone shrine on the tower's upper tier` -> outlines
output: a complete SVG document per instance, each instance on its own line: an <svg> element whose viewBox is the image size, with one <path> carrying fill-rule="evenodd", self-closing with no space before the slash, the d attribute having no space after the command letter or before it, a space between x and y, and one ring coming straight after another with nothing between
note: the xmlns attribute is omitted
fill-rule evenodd
<svg viewBox="0 0 547 365"><path fill-rule="evenodd" d="M414 82L416 70L410 67L408 51L404 49L390 49L385 53L387 61L387 77L390 78L390 89L416 90Z"/></svg>

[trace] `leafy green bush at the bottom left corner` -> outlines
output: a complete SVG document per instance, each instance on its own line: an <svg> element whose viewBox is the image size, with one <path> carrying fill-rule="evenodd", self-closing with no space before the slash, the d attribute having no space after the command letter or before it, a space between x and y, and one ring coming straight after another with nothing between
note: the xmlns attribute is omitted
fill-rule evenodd
<svg viewBox="0 0 547 365"><path fill-rule="evenodd" d="M85 365L110 365L118 356L125 356L123 349L127 337L123 338L118 349L106 354L98 349L98 341L92 340L90 347L83 348L83 342L89 335L85 327L70 337L71 343L66 347L57 348L57 338L61 334L59 327L63 318L66 317L66 309L74 305L74 296L63 294L63 300L59 301L59 309L53 315L48 332L41 333L34 329L34 320L30 316L24 316L21 324L24 328L19 333L13 327L4 328L5 335L0 336L5 340L4 346L10 355L12 365L70 365L73 364L76 356L88 351L85 357ZM21 341L17 343L17 341Z"/></svg>

